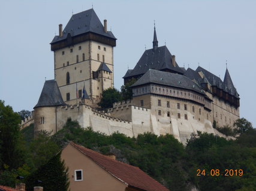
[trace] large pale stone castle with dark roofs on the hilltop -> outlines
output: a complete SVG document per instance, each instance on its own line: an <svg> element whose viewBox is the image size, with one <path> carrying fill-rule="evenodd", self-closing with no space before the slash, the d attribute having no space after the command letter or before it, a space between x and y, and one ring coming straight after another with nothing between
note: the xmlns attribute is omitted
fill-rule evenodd
<svg viewBox="0 0 256 191"><path fill-rule="evenodd" d="M213 128L233 125L239 118L239 94L228 69L224 81L206 69L179 67L164 45L158 47L156 29L153 47L124 76L132 79L132 100L114 103L107 112L97 110L101 95L113 88L113 47L116 38L93 9L71 16L67 26L50 43L54 53L55 79L44 83L30 121L35 132L56 133L67 118L83 127L110 135L129 137L151 132L173 134L186 143L197 131L225 135Z"/></svg>

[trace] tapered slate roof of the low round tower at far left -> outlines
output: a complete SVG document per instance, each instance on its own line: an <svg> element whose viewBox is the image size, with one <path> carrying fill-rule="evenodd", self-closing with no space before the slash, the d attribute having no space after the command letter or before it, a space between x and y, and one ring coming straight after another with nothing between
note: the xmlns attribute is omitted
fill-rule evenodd
<svg viewBox="0 0 256 191"><path fill-rule="evenodd" d="M66 104L62 100L57 82L54 79L44 82L43 90L35 107L64 105Z"/></svg>

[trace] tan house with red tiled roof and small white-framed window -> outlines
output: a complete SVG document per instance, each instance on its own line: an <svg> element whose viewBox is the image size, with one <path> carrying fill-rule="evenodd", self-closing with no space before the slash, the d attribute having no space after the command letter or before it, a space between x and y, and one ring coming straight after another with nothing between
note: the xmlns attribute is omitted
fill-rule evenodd
<svg viewBox="0 0 256 191"><path fill-rule="evenodd" d="M68 167L71 191L168 190L140 168L75 143L69 143L62 150L61 158Z"/></svg>

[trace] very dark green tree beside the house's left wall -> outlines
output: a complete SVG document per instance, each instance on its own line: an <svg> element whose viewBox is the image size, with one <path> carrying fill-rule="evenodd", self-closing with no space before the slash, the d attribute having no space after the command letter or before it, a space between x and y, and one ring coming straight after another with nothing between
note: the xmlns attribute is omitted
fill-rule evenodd
<svg viewBox="0 0 256 191"><path fill-rule="evenodd" d="M69 186L67 171L59 152L26 178L26 190L32 191L34 186L42 186L46 191L66 191ZM42 182L38 183L37 180Z"/></svg>

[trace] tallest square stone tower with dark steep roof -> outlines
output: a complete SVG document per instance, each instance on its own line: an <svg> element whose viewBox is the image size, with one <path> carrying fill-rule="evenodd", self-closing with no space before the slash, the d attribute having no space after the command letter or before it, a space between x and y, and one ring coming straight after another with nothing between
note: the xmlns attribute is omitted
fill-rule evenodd
<svg viewBox="0 0 256 191"><path fill-rule="evenodd" d="M116 38L93 9L71 16L64 30L59 24L59 35L50 45L55 80L66 103L75 104L85 95L97 102L103 90L113 87Z"/></svg>

